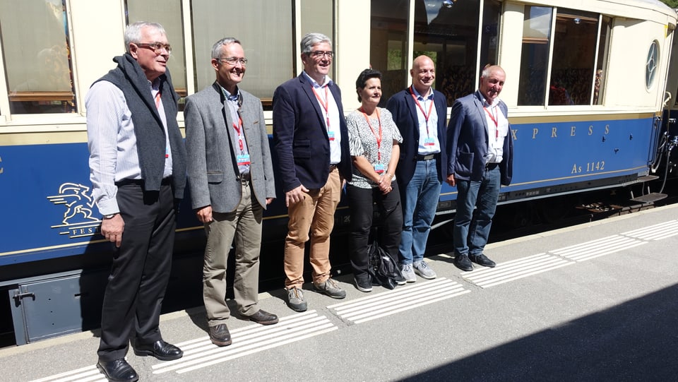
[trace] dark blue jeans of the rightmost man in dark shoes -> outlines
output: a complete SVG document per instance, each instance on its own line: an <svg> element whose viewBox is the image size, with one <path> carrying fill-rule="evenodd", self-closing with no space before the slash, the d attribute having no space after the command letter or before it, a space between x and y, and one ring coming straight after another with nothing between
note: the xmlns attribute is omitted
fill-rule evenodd
<svg viewBox="0 0 678 382"><path fill-rule="evenodd" d="M457 213L454 216L456 255L480 255L487 244L501 186L499 167L484 170L480 181L457 180ZM473 208L477 207L475 214Z"/></svg>

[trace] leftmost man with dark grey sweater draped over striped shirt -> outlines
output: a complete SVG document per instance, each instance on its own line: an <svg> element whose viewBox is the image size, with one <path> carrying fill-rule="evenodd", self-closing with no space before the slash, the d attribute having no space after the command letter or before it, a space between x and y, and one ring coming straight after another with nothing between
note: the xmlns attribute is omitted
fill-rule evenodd
<svg viewBox="0 0 678 382"><path fill-rule="evenodd" d="M104 215L101 234L115 244L101 320L97 367L110 381L137 381L124 359L134 353L171 360L178 347L160 335L178 201L186 185L186 150L167 71L171 47L162 25L125 30L127 52L85 99L90 180Z"/></svg>

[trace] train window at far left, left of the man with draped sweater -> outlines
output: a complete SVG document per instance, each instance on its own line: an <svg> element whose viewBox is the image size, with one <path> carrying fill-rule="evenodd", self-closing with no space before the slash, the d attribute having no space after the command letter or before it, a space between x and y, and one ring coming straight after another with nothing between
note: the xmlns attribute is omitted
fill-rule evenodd
<svg viewBox="0 0 678 382"><path fill-rule="evenodd" d="M76 112L66 1L0 1L0 34L10 112Z"/></svg>

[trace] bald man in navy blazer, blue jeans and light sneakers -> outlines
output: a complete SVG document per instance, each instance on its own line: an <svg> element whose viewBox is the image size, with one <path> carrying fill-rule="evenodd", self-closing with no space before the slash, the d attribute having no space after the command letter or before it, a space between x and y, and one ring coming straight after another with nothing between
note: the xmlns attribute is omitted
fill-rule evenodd
<svg viewBox="0 0 678 382"><path fill-rule="evenodd" d="M432 88L436 71L433 60L418 56L412 61L412 85L388 100L403 143L396 180L403 205L403 234L400 238L400 270L407 282L417 275L436 277L424 261L426 241L436 215L440 187L447 177L445 119L447 100Z"/></svg>

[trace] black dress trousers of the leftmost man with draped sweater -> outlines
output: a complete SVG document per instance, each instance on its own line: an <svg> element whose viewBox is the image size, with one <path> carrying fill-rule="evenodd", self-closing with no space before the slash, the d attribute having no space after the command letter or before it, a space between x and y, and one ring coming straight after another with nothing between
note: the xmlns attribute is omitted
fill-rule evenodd
<svg viewBox="0 0 678 382"><path fill-rule="evenodd" d="M160 340L160 306L172 266L174 196L172 187L143 191L140 184L118 187L117 202L125 222L122 242L113 255L101 312L99 359L127 354L129 338Z"/></svg>

